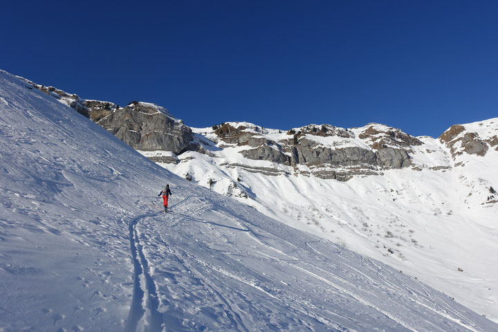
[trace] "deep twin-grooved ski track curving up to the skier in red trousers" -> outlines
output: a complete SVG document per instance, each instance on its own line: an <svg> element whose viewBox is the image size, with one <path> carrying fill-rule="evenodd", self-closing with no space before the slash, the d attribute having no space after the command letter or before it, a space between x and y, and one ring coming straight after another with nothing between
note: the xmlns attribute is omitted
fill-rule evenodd
<svg viewBox="0 0 498 332"><path fill-rule="evenodd" d="M161 212L162 213L162 212ZM143 246L138 241L138 233L136 232L136 224L145 218L158 216L160 213L149 213L137 216L131 220L128 225L129 241L131 257L133 259L133 297L131 298L130 311L128 313L127 325L124 328L125 332L135 332L138 322L149 311L149 328L151 331L160 331L160 326L163 324L163 317L158 312L159 299L156 292L156 284L154 279L147 272L149 266L147 259L143 253ZM140 277L145 278L145 289L142 289ZM147 294L147 308L142 305L143 299Z"/></svg>

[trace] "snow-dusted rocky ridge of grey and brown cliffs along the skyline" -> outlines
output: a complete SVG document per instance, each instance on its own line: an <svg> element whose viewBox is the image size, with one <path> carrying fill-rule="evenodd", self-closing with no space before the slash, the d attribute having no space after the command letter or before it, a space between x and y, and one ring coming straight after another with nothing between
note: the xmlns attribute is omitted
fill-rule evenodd
<svg viewBox="0 0 498 332"><path fill-rule="evenodd" d="M238 148L237 152L244 159L270 162L255 171L268 173L271 169L270 172L281 174L282 169L276 166L288 165L292 167L286 169L288 174L311 174L347 181L355 175L382 174L384 169L428 167L441 170L459 166L459 163L450 163L448 158L451 155L454 159L457 153L454 152L455 143L465 145L459 154L483 156L490 149L498 149L496 127L491 126L490 132L485 134L490 135L481 137L479 130L465 129L462 124L454 125L439 138L450 148L450 154L448 149L441 149L440 144L434 144L434 139L427 136L416 138L400 129L376 123L351 129L310 124L282 131L248 122L225 122L212 128L194 129L156 104L133 101L127 107L119 107L112 102L83 100L53 86L19 78L91 118L134 149L173 152L148 154L151 158L167 156L155 160L165 163L178 163L175 157L185 151L211 155L210 146L214 142L221 149ZM201 134L201 138L194 137L192 130ZM431 156L434 153L443 156L434 158Z"/></svg>

